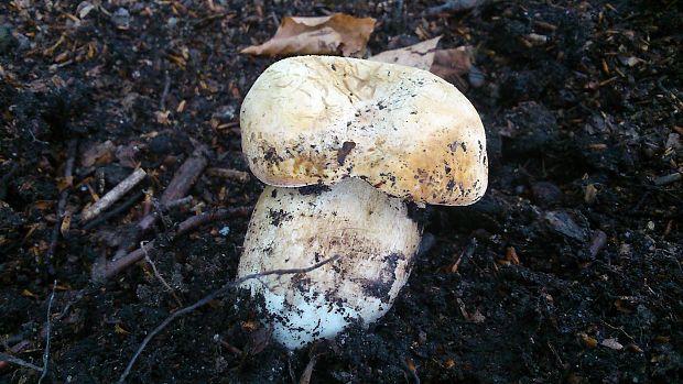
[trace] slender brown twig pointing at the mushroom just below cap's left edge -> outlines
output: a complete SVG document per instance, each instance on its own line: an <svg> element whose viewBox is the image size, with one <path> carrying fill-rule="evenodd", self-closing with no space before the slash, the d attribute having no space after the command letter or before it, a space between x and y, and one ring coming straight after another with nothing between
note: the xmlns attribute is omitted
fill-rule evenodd
<svg viewBox="0 0 683 384"><path fill-rule="evenodd" d="M199 226L203 226L212 221L223 220L227 218L228 216L236 215L236 213L242 215L245 213L245 209L242 208L219 209L215 212L193 216L189 219L181 222L177 227L177 230L169 233L167 238L170 240L174 240L178 235L185 234L186 232L189 232L191 230ZM105 265L100 265L98 267L94 266L93 267L93 279L95 282L104 282L106 279L109 279L116 276L119 272L126 270L130 265L142 260L144 257L144 252L148 252L149 250L151 250L154 246L154 244L155 244L155 241L152 240L148 242L147 244L144 244L144 246L126 254L123 257L112 260L106 263Z"/></svg>

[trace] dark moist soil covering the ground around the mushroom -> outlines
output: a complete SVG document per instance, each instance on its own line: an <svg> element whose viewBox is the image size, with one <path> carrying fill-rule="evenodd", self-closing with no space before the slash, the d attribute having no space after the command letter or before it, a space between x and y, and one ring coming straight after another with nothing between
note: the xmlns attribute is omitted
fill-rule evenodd
<svg viewBox="0 0 683 384"><path fill-rule="evenodd" d="M175 297L147 263L104 286L90 268L143 215L140 191L161 196L198 143L210 167L248 171L239 106L274 58L239 50L283 15L332 11L378 20L372 53L440 34L475 47L484 85L456 83L488 133L485 198L430 209L409 284L368 331L288 352L231 294L152 340L129 381L289 383L319 354L313 383L683 382L683 182L659 179L683 162L681 2L489 1L422 17L437 3L111 0L83 20L78 3L0 4L0 352L42 365L56 279L43 382L116 382L178 301L234 278L248 215L166 233L192 209L249 209L253 177L204 174L193 204L144 237ZM135 165L150 177L117 204L138 194L130 208L57 233L50 256L74 140L67 212ZM39 377L0 361L0 382Z"/></svg>

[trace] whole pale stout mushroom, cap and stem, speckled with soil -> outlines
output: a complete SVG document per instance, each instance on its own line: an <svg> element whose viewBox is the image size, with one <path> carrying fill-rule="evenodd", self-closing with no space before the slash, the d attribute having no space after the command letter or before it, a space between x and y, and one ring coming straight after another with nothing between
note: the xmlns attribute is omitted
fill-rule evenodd
<svg viewBox="0 0 683 384"><path fill-rule="evenodd" d="M268 186L238 275L305 267L246 283L295 349L384 315L421 237L408 204L463 206L488 182L484 127L471 103L429 72L332 56L271 65L240 111L242 151Z"/></svg>

